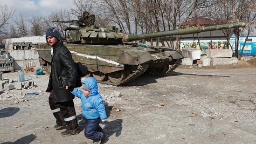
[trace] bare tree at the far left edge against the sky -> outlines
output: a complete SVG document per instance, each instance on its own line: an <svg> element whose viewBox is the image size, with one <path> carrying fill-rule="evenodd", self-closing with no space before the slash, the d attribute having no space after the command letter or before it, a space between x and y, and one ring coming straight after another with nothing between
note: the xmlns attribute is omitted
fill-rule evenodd
<svg viewBox="0 0 256 144"><path fill-rule="evenodd" d="M13 17L15 9L0 5L0 34L7 34L8 21Z"/></svg>

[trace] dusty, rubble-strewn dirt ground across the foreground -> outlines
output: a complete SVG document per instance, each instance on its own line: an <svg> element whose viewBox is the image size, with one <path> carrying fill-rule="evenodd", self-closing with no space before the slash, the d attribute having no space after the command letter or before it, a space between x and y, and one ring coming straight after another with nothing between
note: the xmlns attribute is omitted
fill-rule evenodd
<svg viewBox="0 0 256 144"><path fill-rule="evenodd" d="M18 72L4 73L18 80ZM92 144L80 133L61 137L48 106L47 75L25 73L34 89L0 92L1 144ZM101 144L256 144L256 68L180 67L169 76L142 75L124 87L99 84L108 122ZM122 96L113 96L114 91ZM25 95L37 92L39 95Z"/></svg>

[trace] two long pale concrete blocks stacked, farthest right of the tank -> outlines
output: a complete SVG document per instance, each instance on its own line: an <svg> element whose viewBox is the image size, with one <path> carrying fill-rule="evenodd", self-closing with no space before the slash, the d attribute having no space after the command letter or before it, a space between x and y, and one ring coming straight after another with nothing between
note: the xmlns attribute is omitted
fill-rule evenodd
<svg viewBox="0 0 256 144"><path fill-rule="evenodd" d="M213 66L236 64L238 59L232 57L232 49L207 49L206 56L211 59Z"/></svg>

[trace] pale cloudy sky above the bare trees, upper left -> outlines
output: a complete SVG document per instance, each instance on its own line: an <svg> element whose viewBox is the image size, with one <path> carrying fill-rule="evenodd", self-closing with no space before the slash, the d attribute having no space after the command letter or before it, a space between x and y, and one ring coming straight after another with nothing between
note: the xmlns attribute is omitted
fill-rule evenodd
<svg viewBox="0 0 256 144"><path fill-rule="evenodd" d="M15 16L22 14L24 18L31 18L32 14L38 12L40 15L49 15L52 11L59 9L69 10L75 7L73 0L0 0L0 5L7 5L10 9L16 9Z"/></svg>

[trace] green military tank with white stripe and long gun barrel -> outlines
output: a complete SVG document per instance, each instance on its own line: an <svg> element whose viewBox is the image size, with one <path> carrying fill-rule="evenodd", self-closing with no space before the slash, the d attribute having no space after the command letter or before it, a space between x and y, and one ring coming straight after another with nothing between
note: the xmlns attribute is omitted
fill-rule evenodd
<svg viewBox="0 0 256 144"><path fill-rule="evenodd" d="M70 24L76 25L76 21ZM62 29L65 31L64 45L71 52L75 62L82 62L88 67L86 76L95 77L99 83L120 86L142 74L168 75L181 64L183 59L183 55L173 48L146 46L133 41L235 27L245 27L245 23L192 27L139 35L123 34L114 26L107 28L63 26ZM50 73L50 47L47 44L39 44L36 50L41 65Z"/></svg>

